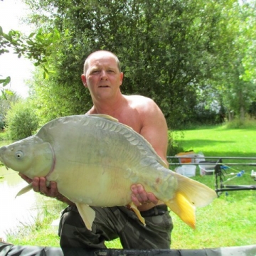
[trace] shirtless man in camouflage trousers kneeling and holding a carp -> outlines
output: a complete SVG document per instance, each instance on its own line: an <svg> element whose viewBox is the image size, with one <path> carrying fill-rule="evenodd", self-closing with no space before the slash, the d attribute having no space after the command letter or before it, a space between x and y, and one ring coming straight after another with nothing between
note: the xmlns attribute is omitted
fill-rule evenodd
<svg viewBox="0 0 256 256"><path fill-rule="evenodd" d="M164 114L156 103L139 95L122 95L123 73L116 55L105 50L90 54L85 60L83 85L90 90L93 106L87 114L109 114L141 134L166 161L168 144ZM166 161L168 164L168 162ZM23 176L26 181L31 180ZM171 217L163 202L153 193L146 193L141 184L131 187L132 201L146 220L144 226L127 206L92 207L96 218L92 231L87 230L75 204L58 193L57 184L46 187L46 178L33 178L33 190L58 198L69 204L60 220L60 246L105 248L105 240L120 238L126 249L169 249L171 244Z"/></svg>

